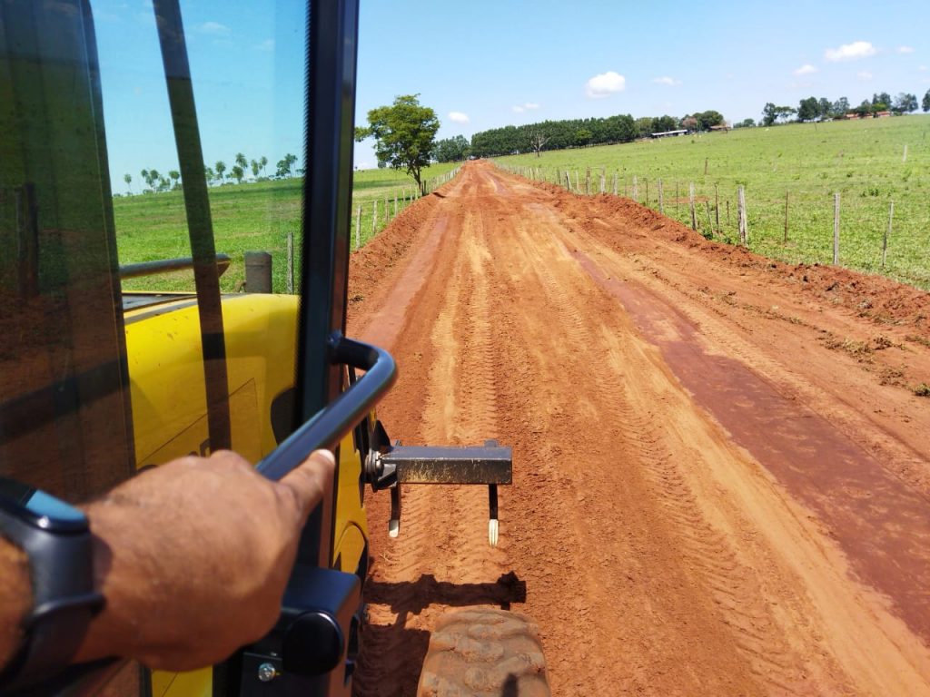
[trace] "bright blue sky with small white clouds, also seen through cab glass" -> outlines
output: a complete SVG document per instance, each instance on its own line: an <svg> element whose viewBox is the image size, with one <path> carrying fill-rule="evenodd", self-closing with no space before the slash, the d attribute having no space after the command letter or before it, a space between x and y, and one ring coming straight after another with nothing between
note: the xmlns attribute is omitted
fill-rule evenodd
<svg viewBox="0 0 930 697"><path fill-rule="evenodd" d="M114 191L177 167L151 0L92 0ZM304 7L182 0L208 164L302 156ZM546 119L709 109L759 120L768 101L930 89L926 0L601 2L361 0L356 123L419 94L439 138ZM355 166L376 165L370 142ZM270 172L271 173L271 172Z"/></svg>

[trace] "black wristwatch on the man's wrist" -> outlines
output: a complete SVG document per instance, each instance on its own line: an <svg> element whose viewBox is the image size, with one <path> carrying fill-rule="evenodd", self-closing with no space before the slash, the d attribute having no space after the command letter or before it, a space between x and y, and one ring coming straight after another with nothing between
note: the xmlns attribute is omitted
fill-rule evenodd
<svg viewBox="0 0 930 697"><path fill-rule="evenodd" d="M94 590L90 527L77 508L0 477L0 535L26 553L33 585L20 650L0 673L3 692L53 677L68 665L103 596Z"/></svg>

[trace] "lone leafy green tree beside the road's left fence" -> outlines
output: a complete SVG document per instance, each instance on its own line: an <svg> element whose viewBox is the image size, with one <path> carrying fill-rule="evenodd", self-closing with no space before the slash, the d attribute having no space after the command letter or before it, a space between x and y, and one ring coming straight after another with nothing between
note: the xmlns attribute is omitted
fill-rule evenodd
<svg viewBox="0 0 930 697"><path fill-rule="evenodd" d="M405 170L422 191L420 173L430 164L439 119L418 98L419 95L401 95L394 98L391 106L372 109L368 112L368 126L355 129L355 139L375 138L379 163Z"/></svg>

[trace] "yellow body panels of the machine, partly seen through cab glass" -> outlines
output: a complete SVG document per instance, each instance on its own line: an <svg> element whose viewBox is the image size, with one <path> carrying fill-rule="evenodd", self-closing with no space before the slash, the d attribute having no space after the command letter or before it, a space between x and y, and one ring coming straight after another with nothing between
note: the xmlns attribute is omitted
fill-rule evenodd
<svg viewBox="0 0 930 697"><path fill-rule="evenodd" d="M141 295L141 294L140 294ZM134 294L126 293L132 299ZM294 386L297 296L223 296L223 330L233 450L257 462L277 445L272 403ZM132 306L132 303L129 303ZM139 467L211 451L196 296L160 294L128 309L126 353ZM352 435L339 446L334 545L330 564L363 568L368 538L360 487L362 462ZM156 671L155 697L209 697L209 668Z"/></svg>

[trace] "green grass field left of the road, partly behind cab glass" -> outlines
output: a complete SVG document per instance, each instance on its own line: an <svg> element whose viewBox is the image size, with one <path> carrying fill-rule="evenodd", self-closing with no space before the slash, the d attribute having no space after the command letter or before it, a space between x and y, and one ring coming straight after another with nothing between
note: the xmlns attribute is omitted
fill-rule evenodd
<svg viewBox="0 0 930 697"><path fill-rule="evenodd" d="M429 180L440 177L456 166L436 164L424 170L423 178ZM285 292L287 235L289 232L299 234L302 183L302 179L294 178L210 189L210 211L217 251L232 257L230 269L219 280L223 291L235 291L245 280L245 252L263 251L272 254L274 292ZM364 244L375 233L372 230L374 203L379 202L377 232L385 225L385 199L389 201L388 208L393 217L394 195L398 197L397 207L400 211L405 204L402 198L404 192L411 199L415 191L414 180L403 172L392 169L355 172L352 243L355 238L357 206L362 206L361 243ZM113 210L121 264L191 256L184 199L180 191L116 198L113 200ZM299 268L299 263L297 266ZM178 271L131 279L123 285L133 290L191 290L193 273Z"/></svg>

